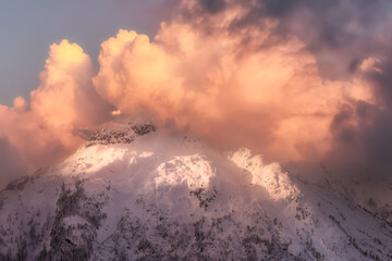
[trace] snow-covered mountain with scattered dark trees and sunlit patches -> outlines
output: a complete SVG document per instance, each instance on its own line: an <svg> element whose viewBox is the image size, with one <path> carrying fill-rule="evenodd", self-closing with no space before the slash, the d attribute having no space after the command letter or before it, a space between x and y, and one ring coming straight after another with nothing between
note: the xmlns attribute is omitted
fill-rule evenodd
<svg viewBox="0 0 392 261"><path fill-rule="evenodd" d="M118 122L0 192L0 260L392 260L392 227L247 149Z"/></svg>

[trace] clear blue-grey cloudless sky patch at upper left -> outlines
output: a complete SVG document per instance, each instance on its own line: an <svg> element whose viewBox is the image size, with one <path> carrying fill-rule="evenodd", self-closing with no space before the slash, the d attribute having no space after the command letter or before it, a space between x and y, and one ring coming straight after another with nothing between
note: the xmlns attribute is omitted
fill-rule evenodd
<svg viewBox="0 0 392 261"><path fill-rule="evenodd" d="M0 104L28 98L50 45L76 41L97 61L99 45L120 28L154 36L161 0L0 1Z"/></svg>

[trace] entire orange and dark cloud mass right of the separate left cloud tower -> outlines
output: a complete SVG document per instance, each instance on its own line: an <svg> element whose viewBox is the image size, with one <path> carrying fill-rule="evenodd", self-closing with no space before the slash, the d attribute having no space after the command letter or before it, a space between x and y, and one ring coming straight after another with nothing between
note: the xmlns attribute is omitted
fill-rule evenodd
<svg viewBox="0 0 392 261"><path fill-rule="evenodd" d="M389 176L390 2L174 4L155 39L120 32L102 45L105 99L287 166Z"/></svg>

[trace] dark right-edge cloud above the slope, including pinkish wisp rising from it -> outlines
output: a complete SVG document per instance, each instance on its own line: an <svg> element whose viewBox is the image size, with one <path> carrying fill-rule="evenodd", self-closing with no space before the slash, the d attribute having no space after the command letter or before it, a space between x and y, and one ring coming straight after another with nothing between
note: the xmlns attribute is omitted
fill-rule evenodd
<svg viewBox="0 0 392 261"><path fill-rule="evenodd" d="M375 104L353 101L342 107L331 123L334 148L327 161L340 172L383 179L392 178L392 54L388 47L376 54L382 54L378 70L363 74Z"/></svg>

